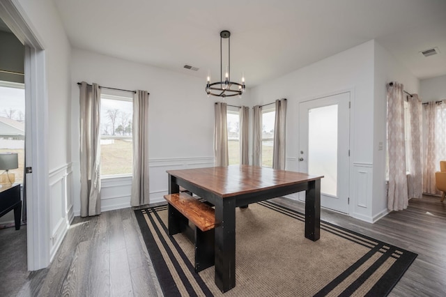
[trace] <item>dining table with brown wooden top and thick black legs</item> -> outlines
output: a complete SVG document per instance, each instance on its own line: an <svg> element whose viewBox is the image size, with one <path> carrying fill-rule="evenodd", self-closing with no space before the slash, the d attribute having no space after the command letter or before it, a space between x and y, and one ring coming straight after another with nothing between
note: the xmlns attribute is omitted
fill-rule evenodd
<svg viewBox="0 0 446 297"><path fill-rule="evenodd" d="M236 208L305 190L305 237L320 236L321 178L249 165L168 170L169 194L179 187L215 206L215 284L236 286Z"/></svg>

